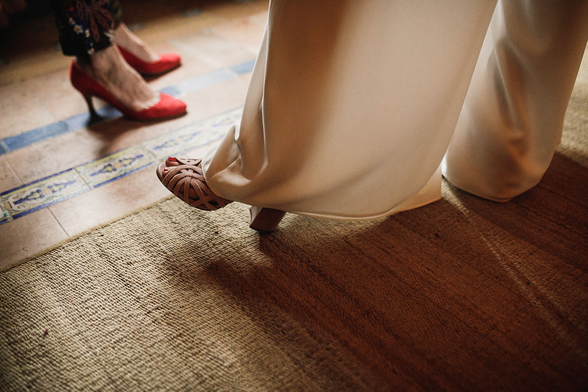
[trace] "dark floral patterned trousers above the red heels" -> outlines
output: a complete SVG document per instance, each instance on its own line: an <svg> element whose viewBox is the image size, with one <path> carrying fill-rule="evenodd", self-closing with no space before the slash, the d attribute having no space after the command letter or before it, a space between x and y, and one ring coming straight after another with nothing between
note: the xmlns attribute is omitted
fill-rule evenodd
<svg viewBox="0 0 588 392"><path fill-rule="evenodd" d="M51 0L64 55L88 56L112 45L121 23L118 0Z"/></svg>

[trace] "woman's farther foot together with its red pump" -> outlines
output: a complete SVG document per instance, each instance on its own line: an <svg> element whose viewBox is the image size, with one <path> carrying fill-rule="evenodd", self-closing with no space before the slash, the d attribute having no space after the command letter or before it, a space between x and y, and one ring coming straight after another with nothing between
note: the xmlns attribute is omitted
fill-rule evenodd
<svg viewBox="0 0 588 392"><path fill-rule="evenodd" d="M158 55L121 23L114 31L114 42L123 58L144 76L156 76L178 68L181 63L176 53Z"/></svg>

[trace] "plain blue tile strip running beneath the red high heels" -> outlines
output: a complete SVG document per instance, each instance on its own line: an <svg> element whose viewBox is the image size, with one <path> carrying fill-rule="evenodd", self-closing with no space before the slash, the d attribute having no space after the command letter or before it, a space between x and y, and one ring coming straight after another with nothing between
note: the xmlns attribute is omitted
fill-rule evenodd
<svg viewBox="0 0 588 392"><path fill-rule="evenodd" d="M180 96L217 83L228 81L235 78L235 75L242 75L252 71L255 60L246 61L240 64L230 66L226 69L206 73L205 75L195 76L191 79L176 83L176 85L168 86L161 89L161 92ZM63 135L64 133L73 132L74 130L82 129L85 126L93 125L95 123L104 122L114 118L120 117L122 114L112 106L103 106L97 110L99 118L91 119L88 112L82 113L65 119L63 121L55 122L49 125L41 126L36 129L31 129L18 135L9 136L0 140L0 155L22 149L36 143L44 142Z"/></svg>

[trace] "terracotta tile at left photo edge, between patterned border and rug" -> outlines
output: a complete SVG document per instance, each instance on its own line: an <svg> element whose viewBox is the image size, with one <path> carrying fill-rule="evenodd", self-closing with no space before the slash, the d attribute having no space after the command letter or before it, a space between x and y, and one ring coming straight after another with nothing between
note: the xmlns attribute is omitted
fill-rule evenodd
<svg viewBox="0 0 588 392"><path fill-rule="evenodd" d="M0 271L68 238L48 209L0 225Z"/></svg>

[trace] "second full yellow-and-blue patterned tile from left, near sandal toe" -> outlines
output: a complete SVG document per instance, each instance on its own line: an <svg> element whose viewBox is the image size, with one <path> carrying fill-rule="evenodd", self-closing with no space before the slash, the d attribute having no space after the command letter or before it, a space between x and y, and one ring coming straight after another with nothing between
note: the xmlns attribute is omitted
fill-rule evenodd
<svg viewBox="0 0 588 392"><path fill-rule="evenodd" d="M92 187L101 186L121 176L154 163L153 156L142 146L132 146L76 167Z"/></svg>

